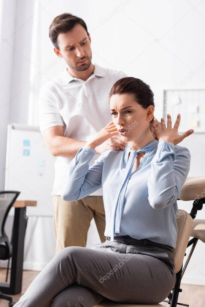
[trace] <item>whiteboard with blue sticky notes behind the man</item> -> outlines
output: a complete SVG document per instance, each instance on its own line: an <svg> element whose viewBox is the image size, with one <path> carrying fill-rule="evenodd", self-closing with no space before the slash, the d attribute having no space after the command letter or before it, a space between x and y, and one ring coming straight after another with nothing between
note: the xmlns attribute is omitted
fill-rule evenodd
<svg viewBox="0 0 205 307"><path fill-rule="evenodd" d="M53 216L55 161L39 127L8 125L5 190L20 191L18 200L37 201L36 207L27 207L28 216Z"/></svg>

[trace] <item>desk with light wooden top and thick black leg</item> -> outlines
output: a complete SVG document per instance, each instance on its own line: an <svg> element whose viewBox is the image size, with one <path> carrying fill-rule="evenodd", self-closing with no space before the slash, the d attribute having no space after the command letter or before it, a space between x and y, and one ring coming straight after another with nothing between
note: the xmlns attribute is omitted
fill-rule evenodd
<svg viewBox="0 0 205 307"><path fill-rule="evenodd" d="M0 283L0 291L5 294L18 294L22 290L22 273L23 273L23 252L24 239L26 233L26 218L24 212L27 206L36 206L35 200L16 200L13 204L15 208L13 224L13 251L11 262L10 284Z"/></svg>

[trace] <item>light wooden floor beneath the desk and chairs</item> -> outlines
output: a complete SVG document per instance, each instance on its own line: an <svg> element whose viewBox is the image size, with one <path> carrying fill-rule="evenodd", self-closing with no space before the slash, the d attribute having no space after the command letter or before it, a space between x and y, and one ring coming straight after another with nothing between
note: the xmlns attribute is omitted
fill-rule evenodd
<svg viewBox="0 0 205 307"><path fill-rule="evenodd" d="M11 295L13 301L17 302L25 293L32 280L38 275L39 271L23 271L22 292ZM0 282L5 282L6 269L0 268ZM179 303L188 304L189 307L205 307L205 286L192 286L181 284L182 292L179 293ZM170 306L168 303L161 303L164 306ZM180 305L178 305L180 306ZM0 307L8 307L8 301L0 300ZM73 306L74 307L74 306Z"/></svg>

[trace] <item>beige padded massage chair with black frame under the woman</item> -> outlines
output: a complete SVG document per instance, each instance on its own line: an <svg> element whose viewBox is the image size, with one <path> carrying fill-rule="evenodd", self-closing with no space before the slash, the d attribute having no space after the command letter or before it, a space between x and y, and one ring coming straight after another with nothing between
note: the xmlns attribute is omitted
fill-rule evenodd
<svg viewBox="0 0 205 307"><path fill-rule="evenodd" d="M203 204L205 204L205 177L187 177L185 181L180 196L178 200L194 200L193 206L190 213L184 210L178 210L178 216L176 218L178 233L177 242L174 250L175 258L175 273L176 273L176 283L172 289L172 292L168 295L169 300L164 300L171 307L176 307L176 305L189 306L187 304L178 303L181 278L187 268L190 261L191 255L196 247L198 240L205 243L205 220L195 219L198 210L202 210ZM190 236L193 237L190 239ZM187 257L187 261L183 266L183 259L186 256L187 247L191 246L191 251ZM163 302L162 302L163 303ZM111 300L104 300L97 304L95 307L165 307L160 304L125 304L117 303Z"/></svg>

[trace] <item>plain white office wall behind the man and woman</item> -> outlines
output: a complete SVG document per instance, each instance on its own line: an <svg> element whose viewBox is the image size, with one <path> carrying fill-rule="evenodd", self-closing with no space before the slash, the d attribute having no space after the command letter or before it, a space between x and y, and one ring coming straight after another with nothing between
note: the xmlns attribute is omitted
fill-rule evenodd
<svg viewBox="0 0 205 307"><path fill-rule="evenodd" d="M138 77L150 84L155 94L155 116L158 119L163 116L163 90L174 89L176 83L205 60L203 1L192 0L190 3L185 0L41 0L40 3L26 0L4 1L0 44L3 68L1 71L4 75L0 84L0 125L3 132L0 142L1 148L4 149L0 153L2 169L6 155L6 124L17 122L30 126L38 125L39 88L58 75L65 66L65 63L60 61L37 80L34 86L24 88L25 84L45 67L44 65L49 65L56 59L48 37L48 28L55 16L70 12L85 20L92 40L93 62L123 70L129 76ZM118 10L116 14L114 9ZM8 38L8 43L2 42L4 37ZM202 69L198 75L188 80L183 88L204 88L204 83L205 69ZM2 107L2 101L7 102L9 106ZM164 116L166 118L166 114ZM191 127L187 125L185 128L188 130ZM2 170L0 186L4 186ZM31 228L37 225L40 227L38 223L44 224L42 220L30 221ZM53 227L52 219L46 223ZM95 236L89 237L91 239L88 246L99 242L93 221L91 229L94 229ZM28 229L25 268L31 265L36 268L39 267L39 263L45 263L52 257L54 240L52 235L52 247L48 255L45 256L42 252L41 256L38 255L39 259L35 260L34 254L28 255L29 245L26 245L28 241L32 242L30 251L34 252L35 240L30 240L30 233ZM204 255L204 246L201 242L195 254L199 253ZM202 261L201 258L195 257L194 263ZM196 283L205 285L203 273L201 269L200 278ZM196 278L195 272L189 270L189 274L184 275L183 282L193 284L193 277Z"/></svg>

